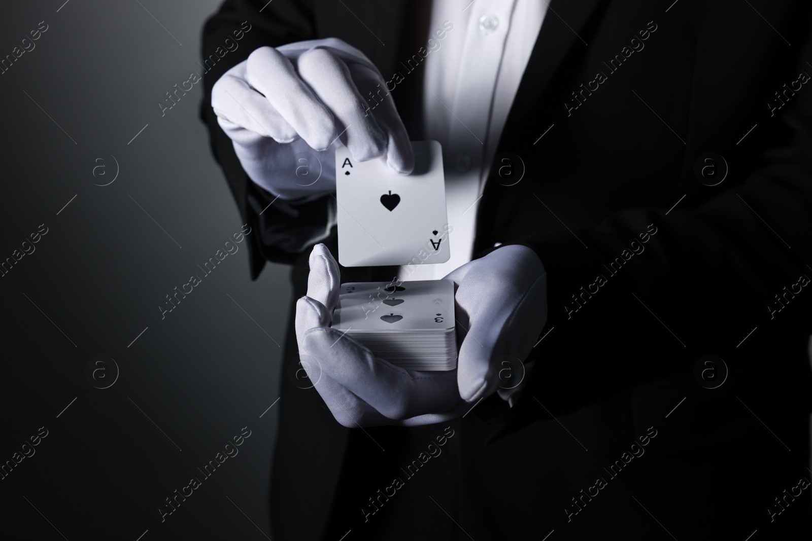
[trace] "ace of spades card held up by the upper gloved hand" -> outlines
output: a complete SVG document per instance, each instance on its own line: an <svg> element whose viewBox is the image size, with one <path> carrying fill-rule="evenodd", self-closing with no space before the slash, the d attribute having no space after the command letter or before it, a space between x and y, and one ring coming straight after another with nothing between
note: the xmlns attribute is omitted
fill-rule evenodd
<svg viewBox="0 0 812 541"><path fill-rule="evenodd" d="M345 267L445 263L448 246L443 149L412 142L415 168L402 175L384 158L335 151L339 262ZM426 256L428 254L428 256Z"/></svg>

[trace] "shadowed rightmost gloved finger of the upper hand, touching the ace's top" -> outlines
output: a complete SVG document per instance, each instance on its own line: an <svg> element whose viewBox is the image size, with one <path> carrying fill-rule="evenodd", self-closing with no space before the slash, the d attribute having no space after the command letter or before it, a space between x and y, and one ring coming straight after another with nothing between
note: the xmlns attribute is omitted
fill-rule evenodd
<svg viewBox="0 0 812 541"><path fill-rule="evenodd" d="M380 75L370 75L371 70L361 64L351 64L349 70L353 80L378 79L376 82L379 81L380 86L376 85L373 91L375 100L367 103L370 107L374 106L374 109L369 109L367 113L375 118L378 126L387 134L387 165L400 174L410 174L414 170L412 143L403 121L400 120L395 101L387 90L386 83ZM361 88L362 96L364 90L365 88ZM382 92L379 92L381 90ZM374 105L376 101L378 101L378 105ZM366 101L364 102L366 103Z"/></svg>

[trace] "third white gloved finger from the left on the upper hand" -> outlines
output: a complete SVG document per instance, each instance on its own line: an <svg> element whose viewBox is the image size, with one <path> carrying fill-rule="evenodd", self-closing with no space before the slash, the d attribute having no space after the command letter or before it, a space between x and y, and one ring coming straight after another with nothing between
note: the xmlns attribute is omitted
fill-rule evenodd
<svg viewBox="0 0 812 541"><path fill-rule="evenodd" d="M343 60L327 49L310 49L296 64L302 80L335 116L340 137L358 161L382 157L387 150L387 135L371 114Z"/></svg>

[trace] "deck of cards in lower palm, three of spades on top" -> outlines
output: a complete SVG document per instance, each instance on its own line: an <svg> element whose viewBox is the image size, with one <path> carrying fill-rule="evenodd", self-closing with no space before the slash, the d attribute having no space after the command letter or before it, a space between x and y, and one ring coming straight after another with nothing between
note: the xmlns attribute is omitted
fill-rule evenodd
<svg viewBox="0 0 812 541"><path fill-rule="evenodd" d="M454 282L349 282L341 285L333 328L379 359L407 370L456 367Z"/></svg>

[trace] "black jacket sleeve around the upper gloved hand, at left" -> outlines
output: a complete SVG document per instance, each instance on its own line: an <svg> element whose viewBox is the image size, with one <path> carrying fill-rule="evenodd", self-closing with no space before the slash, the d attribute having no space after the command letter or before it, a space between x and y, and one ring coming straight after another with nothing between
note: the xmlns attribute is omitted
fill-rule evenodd
<svg viewBox="0 0 812 541"><path fill-rule="evenodd" d="M226 175L240 217L260 233L250 237L252 278L259 275L266 260L292 264L315 239L324 238L335 215L335 203L329 195L304 203L276 200L274 195L251 182L240 165L231 139L218 125L211 107L211 89L226 71L243 62L254 49L315 36L312 0L226 0L203 27L205 94L201 119L209 128L214 158Z"/></svg>

